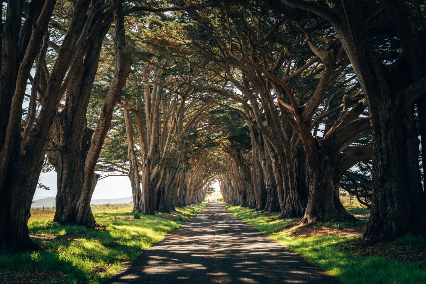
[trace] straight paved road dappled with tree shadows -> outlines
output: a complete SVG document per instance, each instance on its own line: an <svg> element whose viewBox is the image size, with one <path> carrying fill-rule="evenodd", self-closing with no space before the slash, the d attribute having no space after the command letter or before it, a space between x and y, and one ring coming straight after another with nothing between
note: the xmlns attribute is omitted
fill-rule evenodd
<svg viewBox="0 0 426 284"><path fill-rule="evenodd" d="M150 247L111 284L338 284L218 202Z"/></svg>

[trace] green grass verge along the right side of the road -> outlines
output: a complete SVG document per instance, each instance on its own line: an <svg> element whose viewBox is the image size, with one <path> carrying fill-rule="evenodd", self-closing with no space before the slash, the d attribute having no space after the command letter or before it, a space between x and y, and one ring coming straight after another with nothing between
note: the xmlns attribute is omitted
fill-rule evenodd
<svg viewBox="0 0 426 284"><path fill-rule="evenodd" d="M225 207L247 224L264 232L280 244L292 250L312 264L321 267L326 272L339 278L346 284L417 284L426 283L426 269L418 264L388 260L383 257L363 256L344 247L359 236L344 235L317 235L295 236L289 233L291 227L298 219L276 219L279 214L262 214L253 209L225 204ZM362 215L365 209L352 209L352 214ZM351 211L351 210L349 210ZM362 223L366 221L359 221ZM358 226L359 224L353 224ZM351 224L343 222L327 222L317 224L317 227L342 229ZM425 239L406 236L394 242L394 245L417 245L425 249Z"/></svg>

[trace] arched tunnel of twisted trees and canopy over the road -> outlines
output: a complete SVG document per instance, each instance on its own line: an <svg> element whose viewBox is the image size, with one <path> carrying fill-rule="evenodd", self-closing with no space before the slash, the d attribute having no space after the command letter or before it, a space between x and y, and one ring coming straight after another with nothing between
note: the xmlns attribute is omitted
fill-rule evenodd
<svg viewBox="0 0 426 284"><path fill-rule="evenodd" d="M38 248L49 169L58 224L99 227L98 178L126 175L141 214L219 181L226 203L302 224L355 221L346 191L372 209L364 240L425 232L424 5L148 2L3 6L2 247Z"/></svg>

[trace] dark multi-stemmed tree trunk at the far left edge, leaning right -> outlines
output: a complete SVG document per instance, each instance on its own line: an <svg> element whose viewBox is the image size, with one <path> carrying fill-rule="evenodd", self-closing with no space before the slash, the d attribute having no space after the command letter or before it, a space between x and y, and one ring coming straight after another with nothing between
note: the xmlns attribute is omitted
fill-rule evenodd
<svg viewBox="0 0 426 284"><path fill-rule="evenodd" d="M13 7L15 2L17 4L18 1L9 3L9 5ZM85 3L81 3L81 6L77 8L81 8L86 11L84 4ZM33 25L32 35L28 46L21 46L23 50L25 50L25 55L20 63L17 75L14 75L17 80L11 107L9 108L9 121L7 122L7 127L3 127L5 125L1 126L2 131L5 129L6 133L4 141L1 141L1 143L3 143L3 148L1 149L0 154L0 192L3 193L4 198L7 198L6 205L9 205L9 209L5 215L0 217L2 219L1 223L6 225L5 227L2 226L2 231L4 233L0 234L0 241L2 246L17 249L35 249L37 247L37 245L32 243L29 238L27 222L30 216L32 197L35 193L38 177L43 165L48 142L46 137L49 136L49 133L52 130L55 106L57 106L57 103L59 102L57 93L62 81L61 79L65 75L71 57L71 52L67 50L67 47L75 43L74 40L76 40L76 38L72 35L64 40L61 52L62 57L61 60L58 59L61 65L55 65L51 74L51 76L57 76L58 80L49 81L45 95L46 98L43 100L37 124L34 128L32 128L31 135L29 135L29 139L26 143L21 145L20 121L22 117L22 102L25 95L26 83L37 53L37 47L47 29L47 24L49 23L54 7L55 0L46 1L44 3L43 10L38 17L37 22ZM74 24L74 26L72 32L75 33L74 35L78 35L79 29L78 26L75 26L75 20L76 19L73 17L72 24ZM80 19L80 21L83 20ZM10 28L14 29L13 26ZM2 92L3 91L4 89ZM2 101L5 95L7 96L10 94L2 93ZM2 123L3 122L4 121L2 121ZM20 151L17 151L19 148L21 148ZM9 173L7 177L6 173ZM7 221L3 218L7 218Z"/></svg>

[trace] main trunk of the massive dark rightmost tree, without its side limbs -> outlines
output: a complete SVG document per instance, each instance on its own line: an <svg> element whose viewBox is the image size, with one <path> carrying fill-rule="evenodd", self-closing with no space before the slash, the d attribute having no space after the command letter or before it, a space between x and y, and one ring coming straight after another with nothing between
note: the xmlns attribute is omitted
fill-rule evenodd
<svg viewBox="0 0 426 284"><path fill-rule="evenodd" d="M389 73L371 47L365 27L360 25L360 4L342 3L347 22L336 25L336 29L366 93L372 136L372 208L363 239L425 232L412 106L405 101L409 98L404 98L404 91L398 90L397 80L389 80Z"/></svg>

